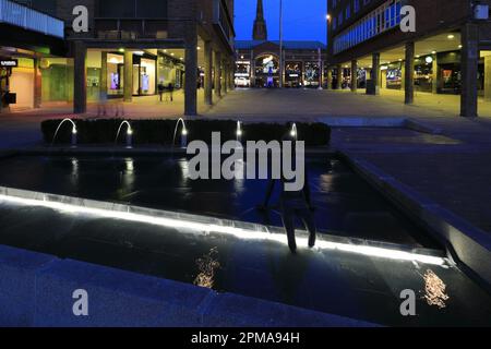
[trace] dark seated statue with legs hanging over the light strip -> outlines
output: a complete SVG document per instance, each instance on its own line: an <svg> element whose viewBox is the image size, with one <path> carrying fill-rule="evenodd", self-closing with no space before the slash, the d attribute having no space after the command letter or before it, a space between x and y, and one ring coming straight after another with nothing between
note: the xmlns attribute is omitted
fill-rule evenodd
<svg viewBox="0 0 491 349"><path fill-rule="evenodd" d="M296 154L295 154L295 141L294 141L294 152L292 152L292 163L296 164ZM307 176L306 169L306 183L303 189L300 191L286 191L285 184L288 183L282 176L280 185L282 185L282 194L280 194L280 204L282 204L282 218L283 224L285 226L285 230L287 232L288 238L288 246L291 253L297 253L297 241L295 238L295 218L299 218L303 225L307 227L310 236L309 236L309 248L313 248L315 245L316 240L316 228L315 228L315 219L313 215L314 207L310 197L310 186L309 179ZM259 210L267 210L271 196L273 195L273 191L275 188L276 180L270 180L266 197L264 200L264 204L258 206Z"/></svg>

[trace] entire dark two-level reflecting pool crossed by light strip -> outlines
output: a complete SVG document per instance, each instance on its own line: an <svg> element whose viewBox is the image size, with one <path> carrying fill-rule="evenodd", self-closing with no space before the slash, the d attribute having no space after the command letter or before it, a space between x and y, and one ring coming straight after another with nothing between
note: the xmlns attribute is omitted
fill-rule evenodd
<svg viewBox="0 0 491 349"><path fill-rule="evenodd" d="M311 158L319 228L328 234L439 249L336 158ZM185 158L21 156L0 160L0 185L280 226L262 216L266 181L190 181ZM274 202L277 201L277 195ZM457 267L307 249L182 226L0 200L0 244L111 266L383 325L489 325L490 296ZM286 237L285 237L286 240ZM428 275L445 285L445 306L428 302ZM400 315L400 292L418 316Z"/></svg>

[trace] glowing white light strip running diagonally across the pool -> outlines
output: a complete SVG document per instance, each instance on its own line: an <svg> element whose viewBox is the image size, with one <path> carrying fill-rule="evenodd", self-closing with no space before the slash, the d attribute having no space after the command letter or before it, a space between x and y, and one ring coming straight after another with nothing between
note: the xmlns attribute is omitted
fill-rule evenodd
<svg viewBox="0 0 491 349"><path fill-rule="evenodd" d="M163 226L168 228L181 228L190 229L194 231L205 231L205 232L218 232L223 234L233 236L243 240L267 240L287 244L284 234L279 233L267 233L259 230L243 229L237 227L218 226L214 224L204 224L191 220L181 220L176 218L165 218L165 217L154 217L149 215L129 213L129 212L118 212L103 208L92 208L85 206L76 206L71 204L64 204L60 202L47 201L47 200L35 200L35 198L23 198L19 196L9 196L0 194L0 201L11 202L21 205L28 206L43 206L47 208L52 208L65 213L72 214L86 214L95 215L106 218L116 218L128 221L136 221L151 224L156 226ZM307 238L297 238L299 244L307 245ZM371 257L381 257L396 261L408 261L408 262L420 262L431 265L446 265L446 260L439 256L431 256L418 253L410 253L400 250L391 250L383 248L375 248L369 245L349 244L340 243L325 240L318 240L316 248L321 250L338 250L348 253L361 254Z"/></svg>

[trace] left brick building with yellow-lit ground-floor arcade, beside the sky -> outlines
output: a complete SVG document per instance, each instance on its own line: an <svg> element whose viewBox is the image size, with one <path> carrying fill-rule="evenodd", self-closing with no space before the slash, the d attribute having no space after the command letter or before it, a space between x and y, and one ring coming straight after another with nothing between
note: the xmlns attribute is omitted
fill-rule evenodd
<svg viewBox="0 0 491 349"><path fill-rule="evenodd" d="M86 111L87 100L132 101L156 94L163 84L183 88L184 115L194 116L197 86L204 87L206 104L213 104L214 87L216 96L232 87L233 0L16 2L64 24L64 53L39 64L55 86L63 80L72 93L60 98L72 99L76 113ZM81 5L88 10L87 31L73 26L84 14Z"/></svg>

